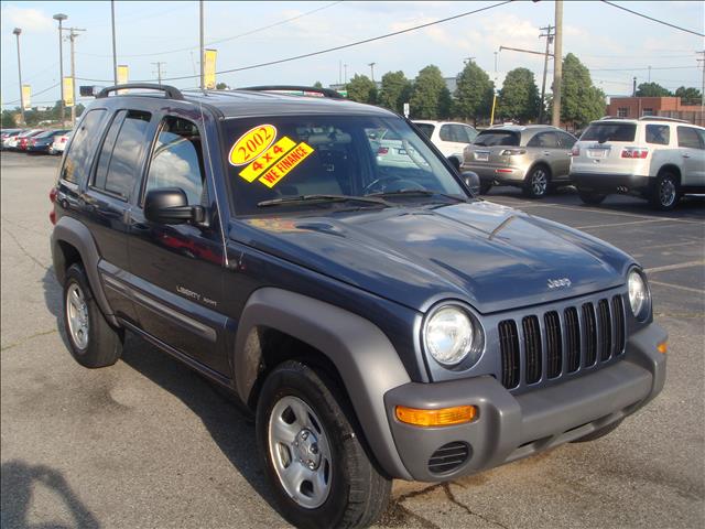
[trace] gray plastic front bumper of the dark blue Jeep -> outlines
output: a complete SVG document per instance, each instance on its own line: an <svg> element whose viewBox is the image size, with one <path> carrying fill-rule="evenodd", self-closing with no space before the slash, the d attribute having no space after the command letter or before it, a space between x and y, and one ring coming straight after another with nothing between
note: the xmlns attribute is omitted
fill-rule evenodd
<svg viewBox="0 0 705 529"><path fill-rule="evenodd" d="M633 413L661 391L665 355L657 346L665 339L665 331L651 324L630 336L622 360L521 395L510 393L489 376L394 388L384 396L384 403L401 461L416 481L448 481L600 430ZM477 419L456 427L412 427L394 415L397 406L437 409L466 404L477 407ZM469 447L465 463L449 472L431 472L432 455L457 442Z"/></svg>

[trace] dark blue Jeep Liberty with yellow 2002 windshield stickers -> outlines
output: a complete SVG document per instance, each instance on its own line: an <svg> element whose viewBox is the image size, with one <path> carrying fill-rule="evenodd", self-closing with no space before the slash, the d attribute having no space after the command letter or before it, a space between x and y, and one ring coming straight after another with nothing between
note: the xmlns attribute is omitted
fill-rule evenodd
<svg viewBox="0 0 705 529"><path fill-rule="evenodd" d="M110 366L130 331L230 391L293 525L372 525L392 478L592 441L661 391L640 264L478 199L395 114L316 88L109 97L130 86L86 108L50 194L70 354ZM386 131L423 163L384 164Z"/></svg>

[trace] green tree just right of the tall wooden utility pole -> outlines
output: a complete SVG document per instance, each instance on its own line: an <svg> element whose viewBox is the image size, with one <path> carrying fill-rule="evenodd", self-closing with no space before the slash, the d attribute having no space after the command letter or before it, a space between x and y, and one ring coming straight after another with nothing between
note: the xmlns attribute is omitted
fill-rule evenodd
<svg viewBox="0 0 705 529"><path fill-rule="evenodd" d="M587 67L575 55L568 53L563 60L561 121L573 123L573 127L578 129L605 116L605 94L593 86Z"/></svg>

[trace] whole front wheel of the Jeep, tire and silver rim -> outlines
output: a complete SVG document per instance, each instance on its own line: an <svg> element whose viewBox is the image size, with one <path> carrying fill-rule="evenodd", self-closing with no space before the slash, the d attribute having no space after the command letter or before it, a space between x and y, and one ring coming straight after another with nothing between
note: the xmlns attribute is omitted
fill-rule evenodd
<svg viewBox="0 0 705 529"><path fill-rule="evenodd" d="M334 382L299 361L276 367L260 393L262 464L279 510L300 528L367 527L389 501L391 481L369 461L338 399Z"/></svg>

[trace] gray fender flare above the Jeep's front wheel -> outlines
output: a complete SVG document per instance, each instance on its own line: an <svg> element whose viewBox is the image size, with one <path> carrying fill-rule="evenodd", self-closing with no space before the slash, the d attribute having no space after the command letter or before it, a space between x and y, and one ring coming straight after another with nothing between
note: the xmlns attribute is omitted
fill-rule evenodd
<svg viewBox="0 0 705 529"><path fill-rule="evenodd" d="M384 393L411 380L379 327L302 294L257 290L242 311L236 337L235 384L243 402L249 401L260 365L259 347L252 346L258 326L286 333L326 355L345 384L377 462L390 476L412 479L397 452L384 407Z"/></svg>

